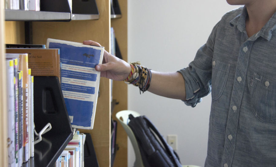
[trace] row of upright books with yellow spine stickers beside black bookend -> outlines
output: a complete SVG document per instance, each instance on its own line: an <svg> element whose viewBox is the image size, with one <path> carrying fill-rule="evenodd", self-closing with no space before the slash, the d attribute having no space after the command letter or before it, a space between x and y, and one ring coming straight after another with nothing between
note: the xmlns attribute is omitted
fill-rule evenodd
<svg viewBox="0 0 276 167"><path fill-rule="evenodd" d="M33 76L28 54L6 54L9 166L34 156Z"/></svg>

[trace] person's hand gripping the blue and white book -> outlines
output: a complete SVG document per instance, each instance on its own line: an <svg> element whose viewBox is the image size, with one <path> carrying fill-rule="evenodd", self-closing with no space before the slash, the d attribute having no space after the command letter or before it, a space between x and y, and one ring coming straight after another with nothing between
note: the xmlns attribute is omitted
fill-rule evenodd
<svg viewBox="0 0 276 167"><path fill-rule="evenodd" d="M94 41L83 41L85 45L101 46ZM101 72L101 77L113 79L116 81L125 80L131 72L129 63L119 59L105 50L102 64L98 64L95 69Z"/></svg>

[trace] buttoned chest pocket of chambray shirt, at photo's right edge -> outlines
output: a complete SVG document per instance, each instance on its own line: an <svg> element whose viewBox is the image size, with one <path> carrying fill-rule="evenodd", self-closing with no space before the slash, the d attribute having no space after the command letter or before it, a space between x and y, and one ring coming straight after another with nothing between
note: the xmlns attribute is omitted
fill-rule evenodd
<svg viewBox="0 0 276 167"><path fill-rule="evenodd" d="M251 111L262 122L276 120L276 82L258 74L251 80Z"/></svg>

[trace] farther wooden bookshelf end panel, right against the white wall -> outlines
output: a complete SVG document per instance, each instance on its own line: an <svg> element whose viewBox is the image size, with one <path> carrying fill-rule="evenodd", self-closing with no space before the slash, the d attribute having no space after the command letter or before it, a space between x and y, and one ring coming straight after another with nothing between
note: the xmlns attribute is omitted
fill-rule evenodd
<svg viewBox="0 0 276 167"><path fill-rule="evenodd" d="M128 38L127 38L127 0L118 0L121 9L121 17L120 18L112 18L111 19L111 27L114 28L115 37L117 39L118 45L120 47L121 55L123 60L128 62L127 60L127 51L128 51ZM128 108L128 99L127 99L127 84L121 81L113 81L113 99L119 102L118 105L114 107L114 111L112 113L112 118L116 120L116 113L125 110ZM127 166L127 151L128 151L128 142L127 142L127 134L123 126L117 120L117 144L119 146L119 150L116 152L115 160L113 167L122 167Z"/></svg>

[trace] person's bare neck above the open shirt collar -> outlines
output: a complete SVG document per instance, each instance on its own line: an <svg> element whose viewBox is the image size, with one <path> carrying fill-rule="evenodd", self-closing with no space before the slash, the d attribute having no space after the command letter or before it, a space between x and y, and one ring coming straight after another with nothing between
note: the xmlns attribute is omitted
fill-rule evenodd
<svg viewBox="0 0 276 167"><path fill-rule="evenodd" d="M263 28L276 11L275 0L257 0L245 5L248 16L246 18L246 32L251 37Z"/></svg>

